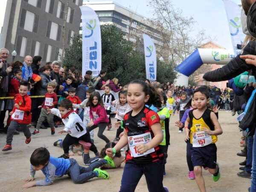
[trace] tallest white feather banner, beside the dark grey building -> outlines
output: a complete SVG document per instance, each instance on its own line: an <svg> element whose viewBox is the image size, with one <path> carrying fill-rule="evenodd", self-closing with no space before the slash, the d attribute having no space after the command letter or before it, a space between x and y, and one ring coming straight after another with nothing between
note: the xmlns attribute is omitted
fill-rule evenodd
<svg viewBox="0 0 256 192"><path fill-rule="evenodd" d="M82 76L87 70L97 76L102 67L102 47L99 18L96 13L87 6L80 6L82 14Z"/></svg>

